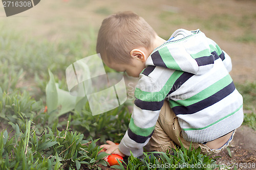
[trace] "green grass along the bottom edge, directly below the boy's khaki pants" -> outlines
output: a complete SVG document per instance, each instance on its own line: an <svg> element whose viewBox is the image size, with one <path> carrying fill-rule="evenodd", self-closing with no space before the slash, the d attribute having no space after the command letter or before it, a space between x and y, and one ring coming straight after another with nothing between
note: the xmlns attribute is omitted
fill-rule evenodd
<svg viewBox="0 0 256 170"><path fill-rule="evenodd" d="M119 165L112 167L123 170L125 167L127 169L215 169L218 167L216 160L200 152L200 147L195 150L191 149L190 145L187 150L182 145L181 149L172 149L166 153L143 153L143 158L140 159L131 153L128 163L119 161Z"/></svg>

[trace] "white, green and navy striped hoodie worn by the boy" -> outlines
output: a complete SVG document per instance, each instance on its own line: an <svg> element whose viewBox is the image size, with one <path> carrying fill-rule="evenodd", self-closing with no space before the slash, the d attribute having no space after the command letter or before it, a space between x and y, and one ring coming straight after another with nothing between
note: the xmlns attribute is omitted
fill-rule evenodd
<svg viewBox="0 0 256 170"><path fill-rule="evenodd" d="M243 98L229 75L230 57L200 30L179 29L146 60L119 150L138 157L168 100L183 138L208 142L241 126Z"/></svg>

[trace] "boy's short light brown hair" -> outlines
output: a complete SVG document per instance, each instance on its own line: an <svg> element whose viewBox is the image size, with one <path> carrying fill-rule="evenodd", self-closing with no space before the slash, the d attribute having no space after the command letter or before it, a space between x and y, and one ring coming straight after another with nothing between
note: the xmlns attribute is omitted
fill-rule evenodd
<svg viewBox="0 0 256 170"><path fill-rule="evenodd" d="M126 11L112 14L102 21L96 51L108 62L129 63L134 48L152 47L156 32L137 14Z"/></svg>

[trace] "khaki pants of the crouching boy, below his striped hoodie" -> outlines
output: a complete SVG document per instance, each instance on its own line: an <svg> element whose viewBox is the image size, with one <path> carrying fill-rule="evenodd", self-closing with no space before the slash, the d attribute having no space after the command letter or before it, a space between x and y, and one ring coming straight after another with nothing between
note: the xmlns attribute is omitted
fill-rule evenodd
<svg viewBox="0 0 256 170"><path fill-rule="evenodd" d="M164 101L161 108L158 121L156 123L155 131L150 139L150 150L158 152L166 152L171 148L175 148L175 144L181 147L180 140L185 148L189 149L191 143L192 148L201 148L203 154L215 154L226 148L233 139L234 132L227 143L225 143L220 149L210 149L202 143L191 143L186 141L181 134L181 127L178 122L178 117L175 115L172 109L170 109L167 101ZM180 140L179 140L180 139Z"/></svg>

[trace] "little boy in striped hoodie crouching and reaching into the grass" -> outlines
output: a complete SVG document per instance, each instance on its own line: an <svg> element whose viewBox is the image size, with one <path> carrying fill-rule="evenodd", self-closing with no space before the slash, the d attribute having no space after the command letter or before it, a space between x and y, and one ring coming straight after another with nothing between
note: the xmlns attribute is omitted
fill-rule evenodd
<svg viewBox="0 0 256 170"><path fill-rule="evenodd" d="M139 77L134 109L119 145L106 153L165 152L174 144L218 153L243 122L243 99L229 75L230 57L200 30L179 29L166 41L133 12L102 21L97 53L117 71Z"/></svg>

